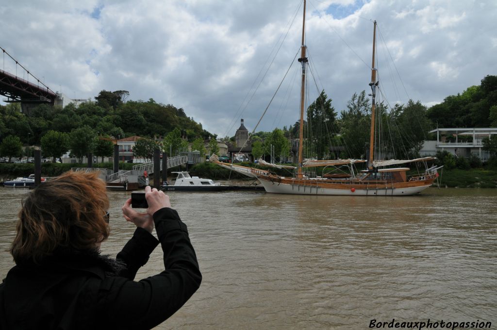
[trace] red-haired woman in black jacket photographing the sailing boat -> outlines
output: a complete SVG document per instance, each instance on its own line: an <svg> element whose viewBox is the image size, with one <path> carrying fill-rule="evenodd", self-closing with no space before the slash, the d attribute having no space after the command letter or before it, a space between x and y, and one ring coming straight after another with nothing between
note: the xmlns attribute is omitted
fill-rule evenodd
<svg viewBox="0 0 497 330"><path fill-rule="evenodd" d="M146 213L123 205L137 228L111 259L100 255L109 201L96 173L67 172L30 191L10 249L16 265L0 284L0 329L151 329L183 306L202 279L195 251L169 197L145 192ZM164 271L134 281L159 243Z"/></svg>

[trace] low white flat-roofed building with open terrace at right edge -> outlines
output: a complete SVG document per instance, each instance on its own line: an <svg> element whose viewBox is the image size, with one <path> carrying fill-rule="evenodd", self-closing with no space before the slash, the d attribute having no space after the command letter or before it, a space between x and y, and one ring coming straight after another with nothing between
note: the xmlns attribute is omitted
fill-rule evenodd
<svg viewBox="0 0 497 330"><path fill-rule="evenodd" d="M484 138L497 139L497 128L437 128L436 140L424 141L419 151L421 156L433 156L437 151L447 151L457 157L478 156L482 161L489 159L483 150Z"/></svg>

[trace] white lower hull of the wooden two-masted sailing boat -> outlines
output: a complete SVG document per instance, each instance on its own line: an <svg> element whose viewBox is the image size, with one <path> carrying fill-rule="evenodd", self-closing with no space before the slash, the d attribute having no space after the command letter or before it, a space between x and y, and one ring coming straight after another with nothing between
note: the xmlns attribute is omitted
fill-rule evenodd
<svg viewBox="0 0 497 330"><path fill-rule="evenodd" d="M259 181L266 189L266 192L276 194L294 194L294 195L343 195L343 196L409 196L417 194L430 185L412 187L412 188L386 188L386 189L330 189L316 188L310 186L283 184L262 180Z"/></svg>

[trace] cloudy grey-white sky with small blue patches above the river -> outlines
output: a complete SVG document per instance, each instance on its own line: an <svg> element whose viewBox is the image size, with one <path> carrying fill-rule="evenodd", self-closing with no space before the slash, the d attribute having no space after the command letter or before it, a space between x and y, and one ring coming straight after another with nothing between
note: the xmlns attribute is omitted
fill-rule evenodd
<svg viewBox="0 0 497 330"><path fill-rule="evenodd" d="M241 118L255 127L286 74L257 131L298 120L301 0L0 3L0 46L69 97L125 89L233 136ZM441 102L497 75L496 17L495 0L308 0L308 103L324 89L339 112L369 88L373 20L381 99ZM0 69L22 78L7 56Z"/></svg>

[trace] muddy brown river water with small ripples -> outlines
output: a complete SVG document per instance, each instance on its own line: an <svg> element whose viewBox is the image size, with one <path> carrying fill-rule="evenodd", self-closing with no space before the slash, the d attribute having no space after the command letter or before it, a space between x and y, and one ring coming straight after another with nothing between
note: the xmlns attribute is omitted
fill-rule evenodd
<svg viewBox="0 0 497 330"><path fill-rule="evenodd" d="M0 278L20 200L0 187ZM108 192L115 255L134 226ZM497 325L497 189L405 197L170 192L203 282L156 329L369 329L390 322ZM157 248L137 279L163 268Z"/></svg>

